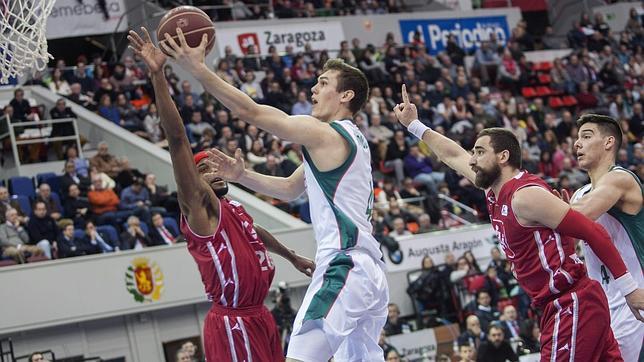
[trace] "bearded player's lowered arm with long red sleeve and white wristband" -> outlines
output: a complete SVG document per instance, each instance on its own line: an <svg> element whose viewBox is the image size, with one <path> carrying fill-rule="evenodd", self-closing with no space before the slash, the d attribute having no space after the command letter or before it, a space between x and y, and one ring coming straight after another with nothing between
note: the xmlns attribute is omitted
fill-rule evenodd
<svg viewBox="0 0 644 362"><path fill-rule="evenodd" d="M601 225L571 209L565 201L542 187L526 187L515 192L512 210L522 225L543 225L588 243L610 270L635 317L644 322L639 314L639 310L644 310L644 290L637 288L637 282Z"/></svg>

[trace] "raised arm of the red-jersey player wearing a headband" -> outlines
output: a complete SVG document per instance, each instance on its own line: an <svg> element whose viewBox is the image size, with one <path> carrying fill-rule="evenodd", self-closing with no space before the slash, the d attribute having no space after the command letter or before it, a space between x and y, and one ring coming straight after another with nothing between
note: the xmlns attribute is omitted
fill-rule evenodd
<svg viewBox="0 0 644 362"><path fill-rule="evenodd" d="M130 48L141 56L151 73L161 127L165 131L170 148L179 206L196 233L210 235L214 229L210 224L209 216L218 217L216 213L219 210L217 206L219 200L201 179L194 164L183 121L170 97L168 83L163 74L166 56L154 46L148 31L145 28L142 28L142 31L144 38L130 31L128 40Z"/></svg>

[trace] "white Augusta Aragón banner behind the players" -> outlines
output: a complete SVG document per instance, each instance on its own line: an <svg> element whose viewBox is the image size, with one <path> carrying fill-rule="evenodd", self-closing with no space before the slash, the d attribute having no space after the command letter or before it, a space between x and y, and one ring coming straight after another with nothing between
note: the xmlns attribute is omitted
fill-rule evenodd
<svg viewBox="0 0 644 362"><path fill-rule="evenodd" d="M423 258L428 255L435 264L442 264L447 253L455 257L471 250L474 257L487 261L490 249L496 245L497 236L490 224L463 228L454 231L438 231L410 237L398 238L402 260L395 263L388 253L384 253L389 272L411 271L420 269Z"/></svg>

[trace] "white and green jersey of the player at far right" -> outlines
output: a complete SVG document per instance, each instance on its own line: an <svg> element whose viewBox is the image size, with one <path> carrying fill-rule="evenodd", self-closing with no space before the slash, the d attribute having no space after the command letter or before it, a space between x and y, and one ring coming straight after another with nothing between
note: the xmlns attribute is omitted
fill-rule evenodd
<svg viewBox="0 0 644 362"><path fill-rule="evenodd" d="M613 166L611 172L614 172L614 170L628 172L633 175L640 184L644 195L644 188L642 188L642 184L635 174L618 166ZM577 190L571 202L583 198L589 192L592 192L591 184ZM644 288L644 274L642 272L642 266L644 265L644 208L641 208L636 215L629 215L613 207L607 213L601 215L597 222L606 229L611 239L613 239L615 247L622 256L624 264L626 264L626 269L631 273L637 285L640 288ZM615 278L608 268L599 260L586 242L583 242L582 245L588 276L601 283L608 298L609 308L614 309L625 304L626 299L615 286Z"/></svg>

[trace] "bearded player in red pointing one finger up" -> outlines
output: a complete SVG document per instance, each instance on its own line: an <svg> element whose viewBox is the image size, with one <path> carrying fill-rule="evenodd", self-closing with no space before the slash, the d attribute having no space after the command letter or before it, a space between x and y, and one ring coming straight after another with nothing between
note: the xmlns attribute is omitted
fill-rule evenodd
<svg viewBox="0 0 644 362"><path fill-rule="evenodd" d="M635 316L644 321L638 289L606 231L521 171L521 148L503 128L479 133L473 154L418 120L405 86L398 120L449 167L484 189L492 225L519 285L541 317L541 361L623 361L610 328L608 302L588 278L573 238L586 240L608 267Z"/></svg>

